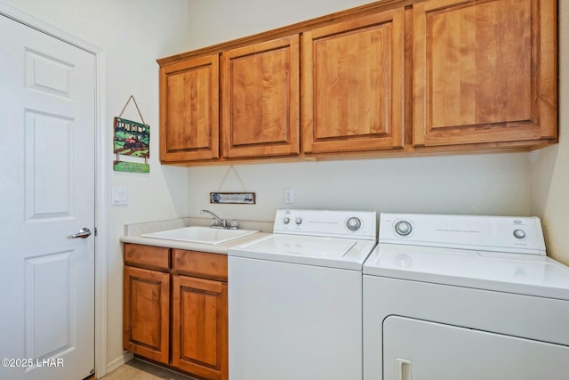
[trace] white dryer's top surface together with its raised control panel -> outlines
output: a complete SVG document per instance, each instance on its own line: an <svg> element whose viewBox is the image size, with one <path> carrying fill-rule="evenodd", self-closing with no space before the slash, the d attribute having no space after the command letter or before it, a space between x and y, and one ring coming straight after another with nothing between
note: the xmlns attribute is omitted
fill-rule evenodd
<svg viewBox="0 0 569 380"><path fill-rule="evenodd" d="M569 300L536 217L381 214L364 274Z"/></svg>

